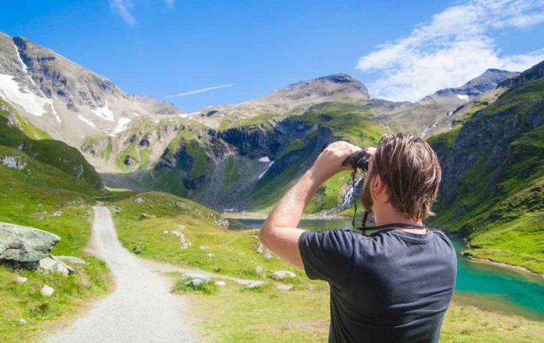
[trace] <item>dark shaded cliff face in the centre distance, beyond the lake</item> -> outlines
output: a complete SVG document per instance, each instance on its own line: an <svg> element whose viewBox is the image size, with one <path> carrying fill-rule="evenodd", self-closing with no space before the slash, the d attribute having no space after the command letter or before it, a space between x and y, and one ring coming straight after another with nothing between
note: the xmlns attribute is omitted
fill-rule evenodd
<svg viewBox="0 0 544 343"><path fill-rule="evenodd" d="M182 135L154 167L154 184L214 208L237 210L274 199L309 167L322 145L338 139L329 128L295 118ZM175 186L174 180L180 183ZM278 188L254 197L271 184Z"/></svg>

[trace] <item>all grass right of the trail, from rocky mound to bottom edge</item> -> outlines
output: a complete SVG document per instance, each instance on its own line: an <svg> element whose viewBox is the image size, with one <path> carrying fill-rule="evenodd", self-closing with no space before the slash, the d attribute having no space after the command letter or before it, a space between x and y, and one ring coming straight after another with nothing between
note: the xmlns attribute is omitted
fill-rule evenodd
<svg viewBox="0 0 544 343"><path fill-rule="evenodd" d="M143 202L135 202L143 198ZM185 203L185 207L176 202ZM191 317L200 338L209 342L326 342L329 330L329 287L310 281L280 259L264 259L255 230L227 231L218 226L217 213L166 193L144 193L111 203L120 208L114 221L125 247L142 244L141 257L180 266L197 267L219 274L206 286L186 285L179 279L174 290L191 300ZM140 213L156 218L140 220ZM193 213L193 218L188 217ZM215 218L215 219L214 219ZM192 243L180 249L179 238L164 234L184 225ZM205 246L207 249L200 249ZM208 254L212 253L212 257ZM263 268L263 275L255 267ZM273 286L271 271L287 269L297 274L291 291ZM225 287L212 282L221 275L261 280L265 285L248 290L224 279ZM490 312L454 302L444 321L442 342L538 342L544 325L523 317Z"/></svg>

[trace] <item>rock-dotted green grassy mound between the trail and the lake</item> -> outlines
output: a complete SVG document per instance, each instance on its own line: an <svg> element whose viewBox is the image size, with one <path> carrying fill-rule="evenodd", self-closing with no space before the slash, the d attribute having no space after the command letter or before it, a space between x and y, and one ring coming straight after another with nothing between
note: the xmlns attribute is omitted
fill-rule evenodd
<svg viewBox="0 0 544 343"><path fill-rule="evenodd" d="M135 202L136 198L143 202ZM271 272L280 269L302 276L280 259L266 259L257 252L255 230L227 230L215 223L220 215L193 201L167 193L142 193L111 205L120 208L113 215L120 242L129 250L143 244L142 257L248 279L271 279ZM142 213L155 218L140 220ZM180 249L179 237L164 233L180 230L181 225L191 242L187 249ZM262 267L263 276L256 273L256 266Z"/></svg>

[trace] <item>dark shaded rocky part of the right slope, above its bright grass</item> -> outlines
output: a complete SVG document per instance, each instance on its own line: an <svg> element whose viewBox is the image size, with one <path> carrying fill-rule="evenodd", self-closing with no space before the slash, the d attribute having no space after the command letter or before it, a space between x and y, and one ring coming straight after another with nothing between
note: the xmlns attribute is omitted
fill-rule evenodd
<svg viewBox="0 0 544 343"><path fill-rule="evenodd" d="M453 219L481 214L463 223L468 232L508 215L485 214L482 206L489 210L504 203L544 174L544 150L538 148L544 133L543 65L511 79L497 101L475 112L460 130L446 134L451 136L449 144L436 144L442 137L431 140L443 167L441 208L449 208Z"/></svg>

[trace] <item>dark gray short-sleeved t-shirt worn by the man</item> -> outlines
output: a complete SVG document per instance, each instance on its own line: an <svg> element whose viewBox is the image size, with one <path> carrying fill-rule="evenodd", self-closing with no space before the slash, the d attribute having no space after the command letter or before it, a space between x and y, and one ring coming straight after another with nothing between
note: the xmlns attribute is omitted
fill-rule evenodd
<svg viewBox="0 0 544 343"><path fill-rule="evenodd" d="M455 249L441 231L303 232L310 279L331 288L329 342L437 342L455 286Z"/></svg>

